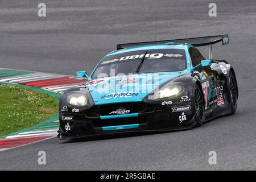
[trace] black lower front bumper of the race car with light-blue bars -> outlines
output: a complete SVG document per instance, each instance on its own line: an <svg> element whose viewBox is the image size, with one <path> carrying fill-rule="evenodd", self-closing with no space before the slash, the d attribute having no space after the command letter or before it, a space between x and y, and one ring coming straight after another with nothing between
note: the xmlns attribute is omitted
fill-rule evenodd
<svg viewBox="0 0 256 182"><path fill-rule="evenodd" d="M99 115L95 108L80 114L60 112L58 138L75 139L112 133L189 129L195 125L193 107L185 111L172 110L173 107L180 106L147 105L146 109L143 107L138 113L120 115ZM183 113L186 118L180 122ZM69 121L64 118L69 118Z"/></svg>

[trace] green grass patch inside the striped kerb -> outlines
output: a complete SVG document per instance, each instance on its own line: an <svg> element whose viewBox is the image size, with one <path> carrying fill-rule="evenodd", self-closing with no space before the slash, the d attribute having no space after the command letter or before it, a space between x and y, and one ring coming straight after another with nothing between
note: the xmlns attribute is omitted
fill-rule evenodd
<svg viewBox="0 0 256 182"><path fill-rule="evenodd" d="M45 121L57 109L55 98L47 94L0 84L0 136Z"/></svg>

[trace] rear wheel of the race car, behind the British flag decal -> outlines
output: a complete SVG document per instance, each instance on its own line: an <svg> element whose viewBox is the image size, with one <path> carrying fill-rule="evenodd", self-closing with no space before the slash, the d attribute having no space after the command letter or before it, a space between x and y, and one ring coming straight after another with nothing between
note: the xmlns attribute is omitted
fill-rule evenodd
<svg viewBox="0 0 256 182"><path fill-rule="evenodd" d="M229 96L231 105L231 114L236 113L237 110L237 82L232 72L229 75Z"/></svg>

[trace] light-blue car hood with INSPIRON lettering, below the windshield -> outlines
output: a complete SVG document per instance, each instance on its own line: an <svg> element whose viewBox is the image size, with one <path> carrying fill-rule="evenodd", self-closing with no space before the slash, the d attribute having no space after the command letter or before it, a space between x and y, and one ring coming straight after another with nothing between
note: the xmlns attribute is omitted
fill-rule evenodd
<svg viewBox="0 0 256 182"><path fill-rule="evenodd" d="M96 105L139 102L164 82L184 72L141 73L133 76L98 78L86 83Z"/></svg>

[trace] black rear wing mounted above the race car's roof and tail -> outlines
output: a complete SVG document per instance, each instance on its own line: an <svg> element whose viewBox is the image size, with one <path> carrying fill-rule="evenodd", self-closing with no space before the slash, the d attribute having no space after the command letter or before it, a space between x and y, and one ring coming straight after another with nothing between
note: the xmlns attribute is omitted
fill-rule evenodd
<svg viewBox="0 0 256 182"><path fill-rule="evenodd" d="M229 35L225 34L225 35L203 36L199 38L159 40L159 41L151 41L151 42L118 44L117 50L128 48L128 47L134 47L134 46L146 46L149 44L164 44L164 43L191 44L194 47L209 46L209 59L212 59L212 44L216 44L218 42L222 42L222 45L229 44Z"/></svg>

